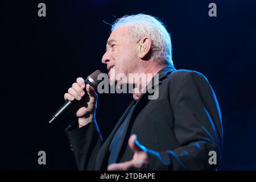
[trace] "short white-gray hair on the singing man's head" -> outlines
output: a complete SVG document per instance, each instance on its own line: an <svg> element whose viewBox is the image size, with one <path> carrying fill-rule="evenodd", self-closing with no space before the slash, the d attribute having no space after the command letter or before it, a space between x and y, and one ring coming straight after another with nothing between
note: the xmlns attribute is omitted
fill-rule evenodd
<svg viewBox="0 0 256 182"><path fill-rule="evenodd" d="M148 36L152 40L154 60L159 64L173 65L171 35L159 19L146 14L125 15L115 20L111 31L125 24L132 26L132 32L136 38L141 39L143 36Z"/></svg>

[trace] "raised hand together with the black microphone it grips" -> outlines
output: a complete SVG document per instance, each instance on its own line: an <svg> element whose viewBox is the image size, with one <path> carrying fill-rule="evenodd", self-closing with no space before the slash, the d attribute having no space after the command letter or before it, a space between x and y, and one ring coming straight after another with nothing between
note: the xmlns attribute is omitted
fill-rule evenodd
<svg viewBox="0 0 256 182"><path fill-rule="evenodd" d="M97 107L96 89L101 81L97 80L101 71L95 71L84 81L83 78L77 78L72 87L68 89L68 93L64 94L66 102L57 110L52 118L48 121L54 125L60 121L71 110L74 110L79 121L79 127L85 126L95 119L95 111Z"/></svg>

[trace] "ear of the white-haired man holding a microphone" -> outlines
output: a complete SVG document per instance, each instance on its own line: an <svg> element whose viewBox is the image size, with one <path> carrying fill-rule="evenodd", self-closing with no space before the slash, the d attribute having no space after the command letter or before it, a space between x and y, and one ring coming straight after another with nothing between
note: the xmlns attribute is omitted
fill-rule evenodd
<svg viewBox="0 0 256 182"><path fill-rule="evenodd" d="M139 42L139 58L145 59L151 52L152 40L144 36Z"/></svg>

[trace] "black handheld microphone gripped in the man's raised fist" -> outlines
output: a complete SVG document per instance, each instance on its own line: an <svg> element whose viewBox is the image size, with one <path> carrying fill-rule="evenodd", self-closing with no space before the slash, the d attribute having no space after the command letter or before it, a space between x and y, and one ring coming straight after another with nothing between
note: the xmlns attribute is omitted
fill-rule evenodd
<svg viewBox="0 0 256 182"><path fill-rule="evenodd" d="M101 71L96 70L92 74L90 74L85 82L86 84L89 84L94 88L94 90L97 90L98 84L101 82L101 80L98 80L97 77L100 75ZM86 86L85 86L86 89ZM81 100L73 100L73 101L66 101L49 119L48 123L51 124L51 126L55 125L56 122L61 121L76 105L78 105Z"/></svg>

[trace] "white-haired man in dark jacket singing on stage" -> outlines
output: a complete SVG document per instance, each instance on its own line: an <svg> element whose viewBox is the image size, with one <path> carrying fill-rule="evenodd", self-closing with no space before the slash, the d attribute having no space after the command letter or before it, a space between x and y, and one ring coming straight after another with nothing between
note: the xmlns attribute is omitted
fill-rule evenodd
<svg viewBox="0 0 256 182"><path fill-rule="evenodd" d="M183 170L216 169L221 160L222 123L216 96L207 79L195 71L174 68L171 38L163 24L150 15L123 16L112 26L102 63L109 82L119 73L150 73L139 92L103 140L97 127L97 94L82 78L65 93L65 100L81 100L78 122L67 133L79 169ZM159 96L148 100L145 85L158 74ZM106 121L107 122L107 121ZM210 154L215 154L209 159ZM214 159L214 157L216 159Z"/></svg>

